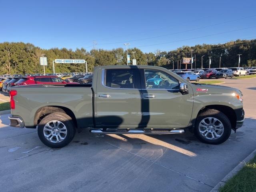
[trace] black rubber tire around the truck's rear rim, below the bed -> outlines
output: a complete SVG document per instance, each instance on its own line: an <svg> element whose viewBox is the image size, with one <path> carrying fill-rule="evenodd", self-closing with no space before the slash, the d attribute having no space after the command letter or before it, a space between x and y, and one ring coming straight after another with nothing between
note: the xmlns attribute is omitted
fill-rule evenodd
<svg viewBox="0 0 256 192"><path fill-rule="evenodd" d="M64 140L58 143L50 142L44 136L44 126L48 122L53 120L58 120L62 122L66 126L66 130L67 130L66 138L64 138ZM37 133L42 143L45 144L46 146L51 148L61 148L68 145L72 141L72 139L75 136L76 129L75 129L73 120L72 118L70 118L70 116L62 112L55 112L55 113L48 114L40 121L40 123L38 124Z"/></svg>

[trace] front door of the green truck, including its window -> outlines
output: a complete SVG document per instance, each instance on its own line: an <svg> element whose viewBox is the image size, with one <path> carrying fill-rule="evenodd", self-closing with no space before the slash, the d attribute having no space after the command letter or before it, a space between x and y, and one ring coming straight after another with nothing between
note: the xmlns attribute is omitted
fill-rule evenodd
<svg viewBox="0 0 256 192"><path fill-rule="evenodd" d="M161 70L140 70L142 82L142 124L145 127L188 126L193 108L193 91L182 95L179 81Z"/></svg>

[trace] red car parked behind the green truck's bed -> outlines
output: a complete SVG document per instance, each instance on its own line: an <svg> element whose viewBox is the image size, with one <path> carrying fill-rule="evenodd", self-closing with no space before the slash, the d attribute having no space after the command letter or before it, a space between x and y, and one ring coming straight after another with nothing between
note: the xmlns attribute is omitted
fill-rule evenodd
<svg viewBox="0 0 256 192"><path fill-rule="evenodd" d="M69 83L57 76L28 76L22 77L15 83L15 86L31 84L77 84Z"/></svg>

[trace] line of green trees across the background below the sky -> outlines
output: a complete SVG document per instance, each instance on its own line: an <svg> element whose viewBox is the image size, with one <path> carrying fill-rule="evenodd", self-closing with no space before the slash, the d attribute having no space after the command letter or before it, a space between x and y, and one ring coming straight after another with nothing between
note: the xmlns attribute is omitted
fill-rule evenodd
<svg viewBox="0 0 256 192"><path fill-rule="evenodd" d="M143 53L138 48L128 49L130 58L135 59L139 65L162 66L168 69L185 68L180 65L183 57L191 57L193 50L193 68L201 68L202 56L203 68L209 67L209 56L211 56L211 67L237 67L238 56L242 54L240 66L256 66L256 39L236 40L224 44L202 44L196 46L182 46L176 50ZM88 71L93 71L98 65L126 65L126 50L115 48L112 50L92 49L87 51L84 48L76 50L66 48L42 49L30 43L3 42L0 43L0 74L25 74L43 73L43 66L40 66L39 58L45 54L48 60L46 73L52 73L52 61L55 59L84 59L88 64ZM179 66L178 66L179 62ZM196 66L195 66L196 65ZM191 65L188 66L191 68ZM55 64L55 72L85 72L84 64Z"/></svg>

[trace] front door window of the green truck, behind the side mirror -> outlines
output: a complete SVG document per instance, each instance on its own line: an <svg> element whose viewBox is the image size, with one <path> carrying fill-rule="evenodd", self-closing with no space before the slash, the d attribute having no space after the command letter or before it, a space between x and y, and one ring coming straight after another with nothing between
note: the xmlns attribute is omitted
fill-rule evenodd
<svg viewBox="0 0 256 192"><path fill-rule="evenodd" d="M169 74L158 70L144 70L144 73L146 89L179 89L179 81Z"/></svg>

